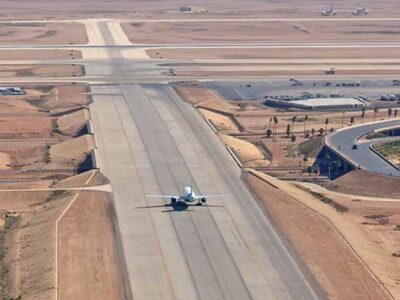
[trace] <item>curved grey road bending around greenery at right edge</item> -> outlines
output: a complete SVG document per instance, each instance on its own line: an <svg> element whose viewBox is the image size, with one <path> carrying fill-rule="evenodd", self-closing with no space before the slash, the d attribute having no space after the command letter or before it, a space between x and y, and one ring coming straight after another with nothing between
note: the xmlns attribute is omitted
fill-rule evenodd
<svg viewBox="0 0 400 300"><path fill-rule="evenodd" d="M400 170L370 149L371 142L358 141L363 135L391 126L400 127L400 120L387 120L339 130L329 134L325 144L356 167L383 175L400 176ZM357 144L358 149L353 149L354 144Z"/></svg>

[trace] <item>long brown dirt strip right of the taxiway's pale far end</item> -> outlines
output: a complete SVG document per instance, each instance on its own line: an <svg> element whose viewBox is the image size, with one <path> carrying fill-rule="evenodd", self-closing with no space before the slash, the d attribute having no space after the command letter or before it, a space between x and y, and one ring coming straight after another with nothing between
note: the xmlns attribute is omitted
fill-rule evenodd
<svg viewBox="0 0 400 300"><path fill-rule="evenodd" d="M132 43L337 43L393 42L396 21L336 22L132 22L123 24ZM171 34L173 33L173 34Z"/></svg>

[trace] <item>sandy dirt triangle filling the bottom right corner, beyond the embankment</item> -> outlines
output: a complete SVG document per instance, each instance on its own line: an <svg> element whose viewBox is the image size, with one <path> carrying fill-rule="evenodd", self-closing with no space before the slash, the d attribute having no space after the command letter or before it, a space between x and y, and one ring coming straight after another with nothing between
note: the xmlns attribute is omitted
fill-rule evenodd
<svg viewBox="0 0 400 300"><path fill-rule="evenodd" d="M329 218L356 249L374 274L395 299L400 296L400 201L377 197L334 193L320 186L303 183L303 189L332 206L346 208L344 213L330 209ZM326 205L326 204L325 204ZM325 207L326 208L326 207ZM321 213L324 213L320 210ZM326 213L326 212L325 212Z"/></svg>

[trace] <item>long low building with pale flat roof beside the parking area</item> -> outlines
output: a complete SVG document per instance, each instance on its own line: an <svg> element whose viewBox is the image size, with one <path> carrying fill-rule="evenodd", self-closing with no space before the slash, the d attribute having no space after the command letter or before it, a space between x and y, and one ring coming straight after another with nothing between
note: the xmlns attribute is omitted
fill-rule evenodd
<svg viewBox="0 0 400 300"><path fill-rule="evenodd" d="M267 98L264 103L266 105L275 107L292 107L308 110L360 109L368 106L368 103L357 98L310 98L293 101L282 101Z"/></svg>

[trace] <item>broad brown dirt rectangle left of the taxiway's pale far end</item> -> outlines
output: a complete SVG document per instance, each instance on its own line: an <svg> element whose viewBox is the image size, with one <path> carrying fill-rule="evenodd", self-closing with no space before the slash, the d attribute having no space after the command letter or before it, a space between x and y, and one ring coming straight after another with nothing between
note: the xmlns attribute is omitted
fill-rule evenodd
<svg viewBox="0 0 400 300"><path fill-rule="evenodd" d="M86 44L86 30L79 23L0 23L0 44Z"/></svg>

